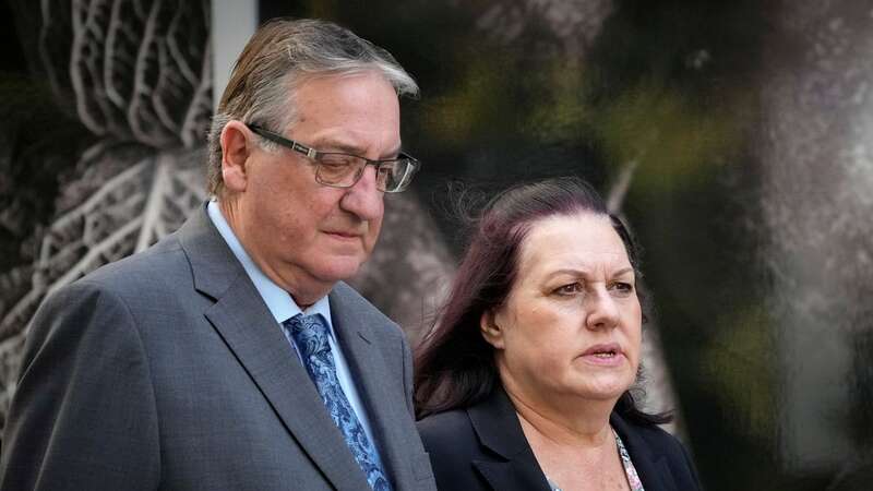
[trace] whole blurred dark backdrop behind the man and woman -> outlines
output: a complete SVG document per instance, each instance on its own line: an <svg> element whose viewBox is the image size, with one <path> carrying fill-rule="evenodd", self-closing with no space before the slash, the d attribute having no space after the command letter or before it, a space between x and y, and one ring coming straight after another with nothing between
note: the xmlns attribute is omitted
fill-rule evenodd
<svg viewBox="0 0 873 491"><path fill-rule="evenodd" d="M203 200L230 63L273 16L334 20L418 80L356 286L415 343L465 244L461 196L578 175L631 224L655 304L648 406L709 490L873 481L873 3L7 0L0 427L48 292ZM215 87L218 87L217 89Z"/></svg>

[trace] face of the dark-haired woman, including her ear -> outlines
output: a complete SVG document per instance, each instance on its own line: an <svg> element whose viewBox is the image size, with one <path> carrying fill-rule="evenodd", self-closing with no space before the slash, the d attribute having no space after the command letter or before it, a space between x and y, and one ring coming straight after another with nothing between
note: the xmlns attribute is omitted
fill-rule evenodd
<svg viewBox="0 0 873 491"><path fill-rule="evenodd" d="M481 320L507 391L543 402L618 399L636 378L642 311L609 217L536 221L517 268L506 301Z"/></svg>

